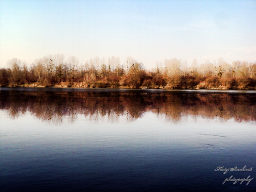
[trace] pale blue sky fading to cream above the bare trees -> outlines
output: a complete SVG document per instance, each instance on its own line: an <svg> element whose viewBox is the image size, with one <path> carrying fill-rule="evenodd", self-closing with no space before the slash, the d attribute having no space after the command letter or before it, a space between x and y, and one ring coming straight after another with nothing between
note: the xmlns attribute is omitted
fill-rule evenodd
<svg viewBox="0 0 256 192"><path fill-rule="evenodd" d="M0 0L0 67L63 53L190 65L256 62L256 1Z"/></svg>

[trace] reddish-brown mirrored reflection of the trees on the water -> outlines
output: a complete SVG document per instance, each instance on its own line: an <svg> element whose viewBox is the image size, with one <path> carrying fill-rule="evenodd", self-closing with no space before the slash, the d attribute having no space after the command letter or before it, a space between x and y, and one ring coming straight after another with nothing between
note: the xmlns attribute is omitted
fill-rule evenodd
<svg viewBox="0 0 256 192"><path fill-rule="evenodd" d="M71 122L83 114L89 119L107 117L115 122L120 116L127 121L141 118L147 111L179 122L192 115L236 122L255 122L254 94L189 93L93 93L93 92L16 92L1 91L0 109L10 118L26 112L44 121L61 123L64 116Z"/></svg>

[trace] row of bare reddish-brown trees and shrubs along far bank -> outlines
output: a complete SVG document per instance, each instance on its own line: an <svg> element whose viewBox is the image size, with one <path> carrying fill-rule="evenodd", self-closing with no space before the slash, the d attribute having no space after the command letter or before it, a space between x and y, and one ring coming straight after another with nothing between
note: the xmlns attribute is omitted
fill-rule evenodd
<svg viewBox="0 0 256 192"><path fill-rule="evenodd" d="M64 86L64 87L130 87L166 89L256 89L256 62L222 58L196 60L188 66L181 59L156 62L151 70L142 62L126 57L94 57L79 64L75 56L48 55L36 59L30 66L25 61L9 60L9 68L0 69L0 86Z"/></svg>

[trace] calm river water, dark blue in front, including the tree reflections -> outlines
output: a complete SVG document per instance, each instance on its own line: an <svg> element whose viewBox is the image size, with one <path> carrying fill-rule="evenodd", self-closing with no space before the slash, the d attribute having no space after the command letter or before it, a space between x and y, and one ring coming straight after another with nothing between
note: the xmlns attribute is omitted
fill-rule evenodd
<svg viewBox="0 0 256 192"><path fill-rule="evenodd" d="M1 88L0 191L256 189L256 94L32 90Z"/></svg>

